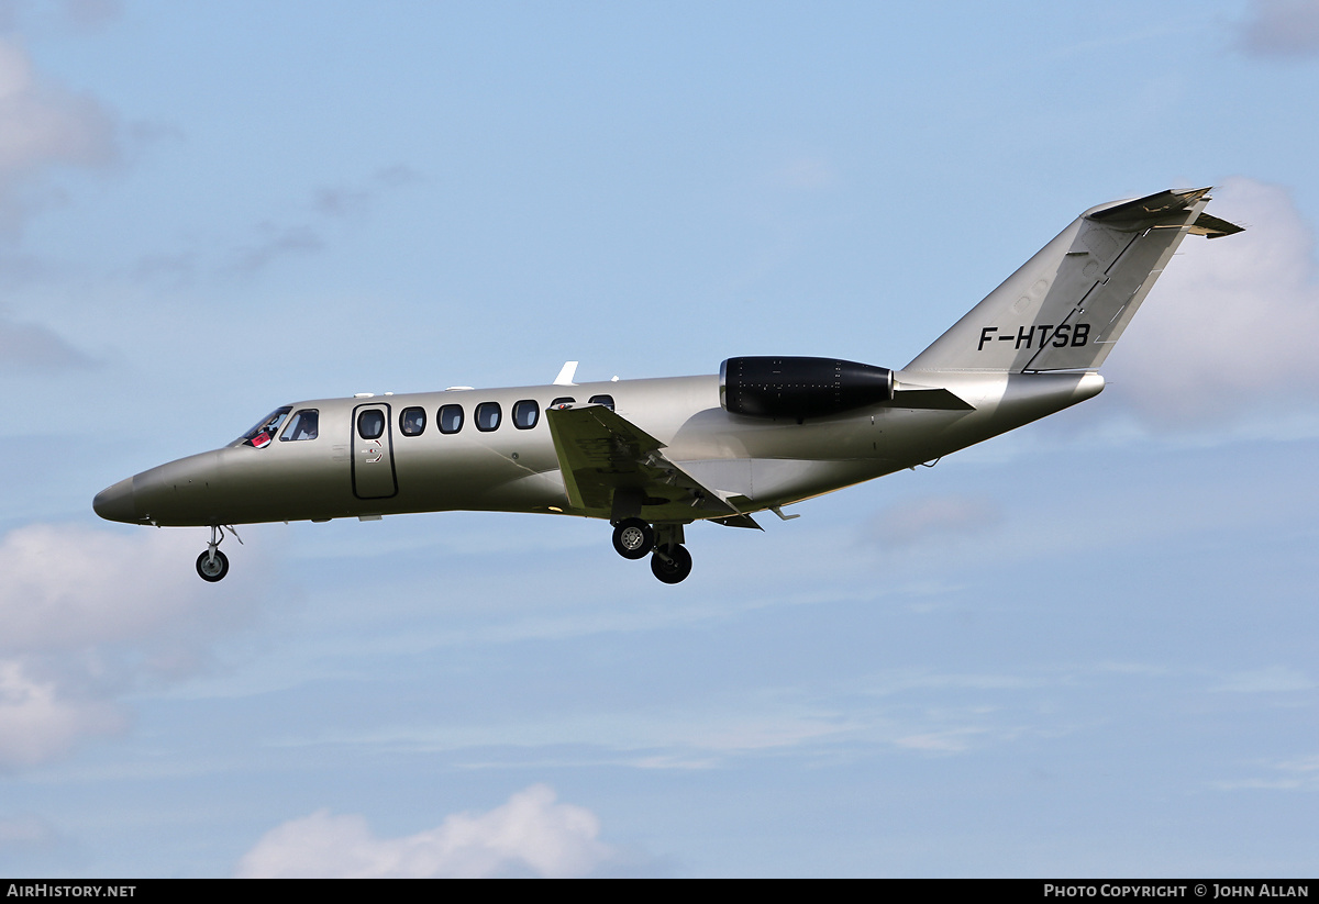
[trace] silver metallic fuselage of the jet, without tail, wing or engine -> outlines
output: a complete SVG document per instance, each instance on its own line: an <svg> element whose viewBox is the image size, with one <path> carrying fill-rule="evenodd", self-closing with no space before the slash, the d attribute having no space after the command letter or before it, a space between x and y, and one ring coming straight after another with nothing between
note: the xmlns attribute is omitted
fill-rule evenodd
<svg viewBox="0 0 1319 904"><path fill-rule="evenodd" d="M909 381L909 374L897 372L896 380L898 386L931 386L931 376L923 372ZM936 385L971 410L904 409L890 402L802 423L749 418L721 407L718 376L298 402L290 407L319 411L314 440L272 438L262 448L235 443L179 459L106 489L95 509L112 521L158 526L450 510L588 515L570 503L546 418L520 430L508 412L525 399L543 414L554 398L584 403L608 394L620 416L663 443L670 461L753 513L938 459L1091 398L1104 386L1093 372L938 377ZM472 412L481 402L500 403L505 416L499 428L476 428ZM458 432L438 430L437 411L446 405L466 411ZM379 445L363 449L353 424L369 407L384 411L386 428ZM419 435L400 430L400 414L409 407L427 415ZM654 521L706 517L695 507L670 507Z"/></svg>

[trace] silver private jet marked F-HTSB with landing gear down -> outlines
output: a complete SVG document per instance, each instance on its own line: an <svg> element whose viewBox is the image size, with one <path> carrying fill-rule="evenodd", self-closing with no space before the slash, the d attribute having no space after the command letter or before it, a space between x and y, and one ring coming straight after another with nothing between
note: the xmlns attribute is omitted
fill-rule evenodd
<svg viewBox="0 0 1319 904"><path fill-rule="evenodd" d="M235 524L481 510L608 521L625 559L691 572L696 521L754 515L997 436L1096 395L1097 368L1187 235L1241 227L1208 188L1100 204L900 370L732 357L719 374L361 394L282 405L220 449L96 494L109 521L210 527L219 581Z"/></svg>

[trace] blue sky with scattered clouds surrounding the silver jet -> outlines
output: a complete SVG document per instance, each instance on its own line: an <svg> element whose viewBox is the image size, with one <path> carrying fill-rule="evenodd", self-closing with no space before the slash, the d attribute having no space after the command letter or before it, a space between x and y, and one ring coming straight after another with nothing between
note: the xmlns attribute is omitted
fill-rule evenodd
<svg viewBox="0 0 1319 904"><path fill-rule="evenodd" d="M0 4L0 868L1312 875L1319 4ZM204 531L276 405L901 366L1215 184L1049 422L696 526Z"/></svg>

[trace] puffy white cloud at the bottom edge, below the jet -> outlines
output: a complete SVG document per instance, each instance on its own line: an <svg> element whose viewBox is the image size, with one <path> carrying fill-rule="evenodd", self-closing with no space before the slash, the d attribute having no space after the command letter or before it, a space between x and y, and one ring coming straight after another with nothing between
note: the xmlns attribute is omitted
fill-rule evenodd
<svg viewBox="0 0 1319 904"><path fill-rule="evenodd" d="M272 829L239 863L239 878L584 876L615 851L600 820L532 785L488 813L456 813L435 829L376 838L361 816L318 810Z"/></svg>

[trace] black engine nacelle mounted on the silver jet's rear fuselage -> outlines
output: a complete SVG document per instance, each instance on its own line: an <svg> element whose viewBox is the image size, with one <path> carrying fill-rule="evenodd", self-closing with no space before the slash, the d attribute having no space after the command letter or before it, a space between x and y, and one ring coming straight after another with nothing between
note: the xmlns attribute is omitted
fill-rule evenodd
<svg viewBox="0 0 1319 904"><path fill-rule="evenodd" d="M752 418L822 418L893 398L893 372L838 358L744 357L719 365L719 403Z"/></svg>

